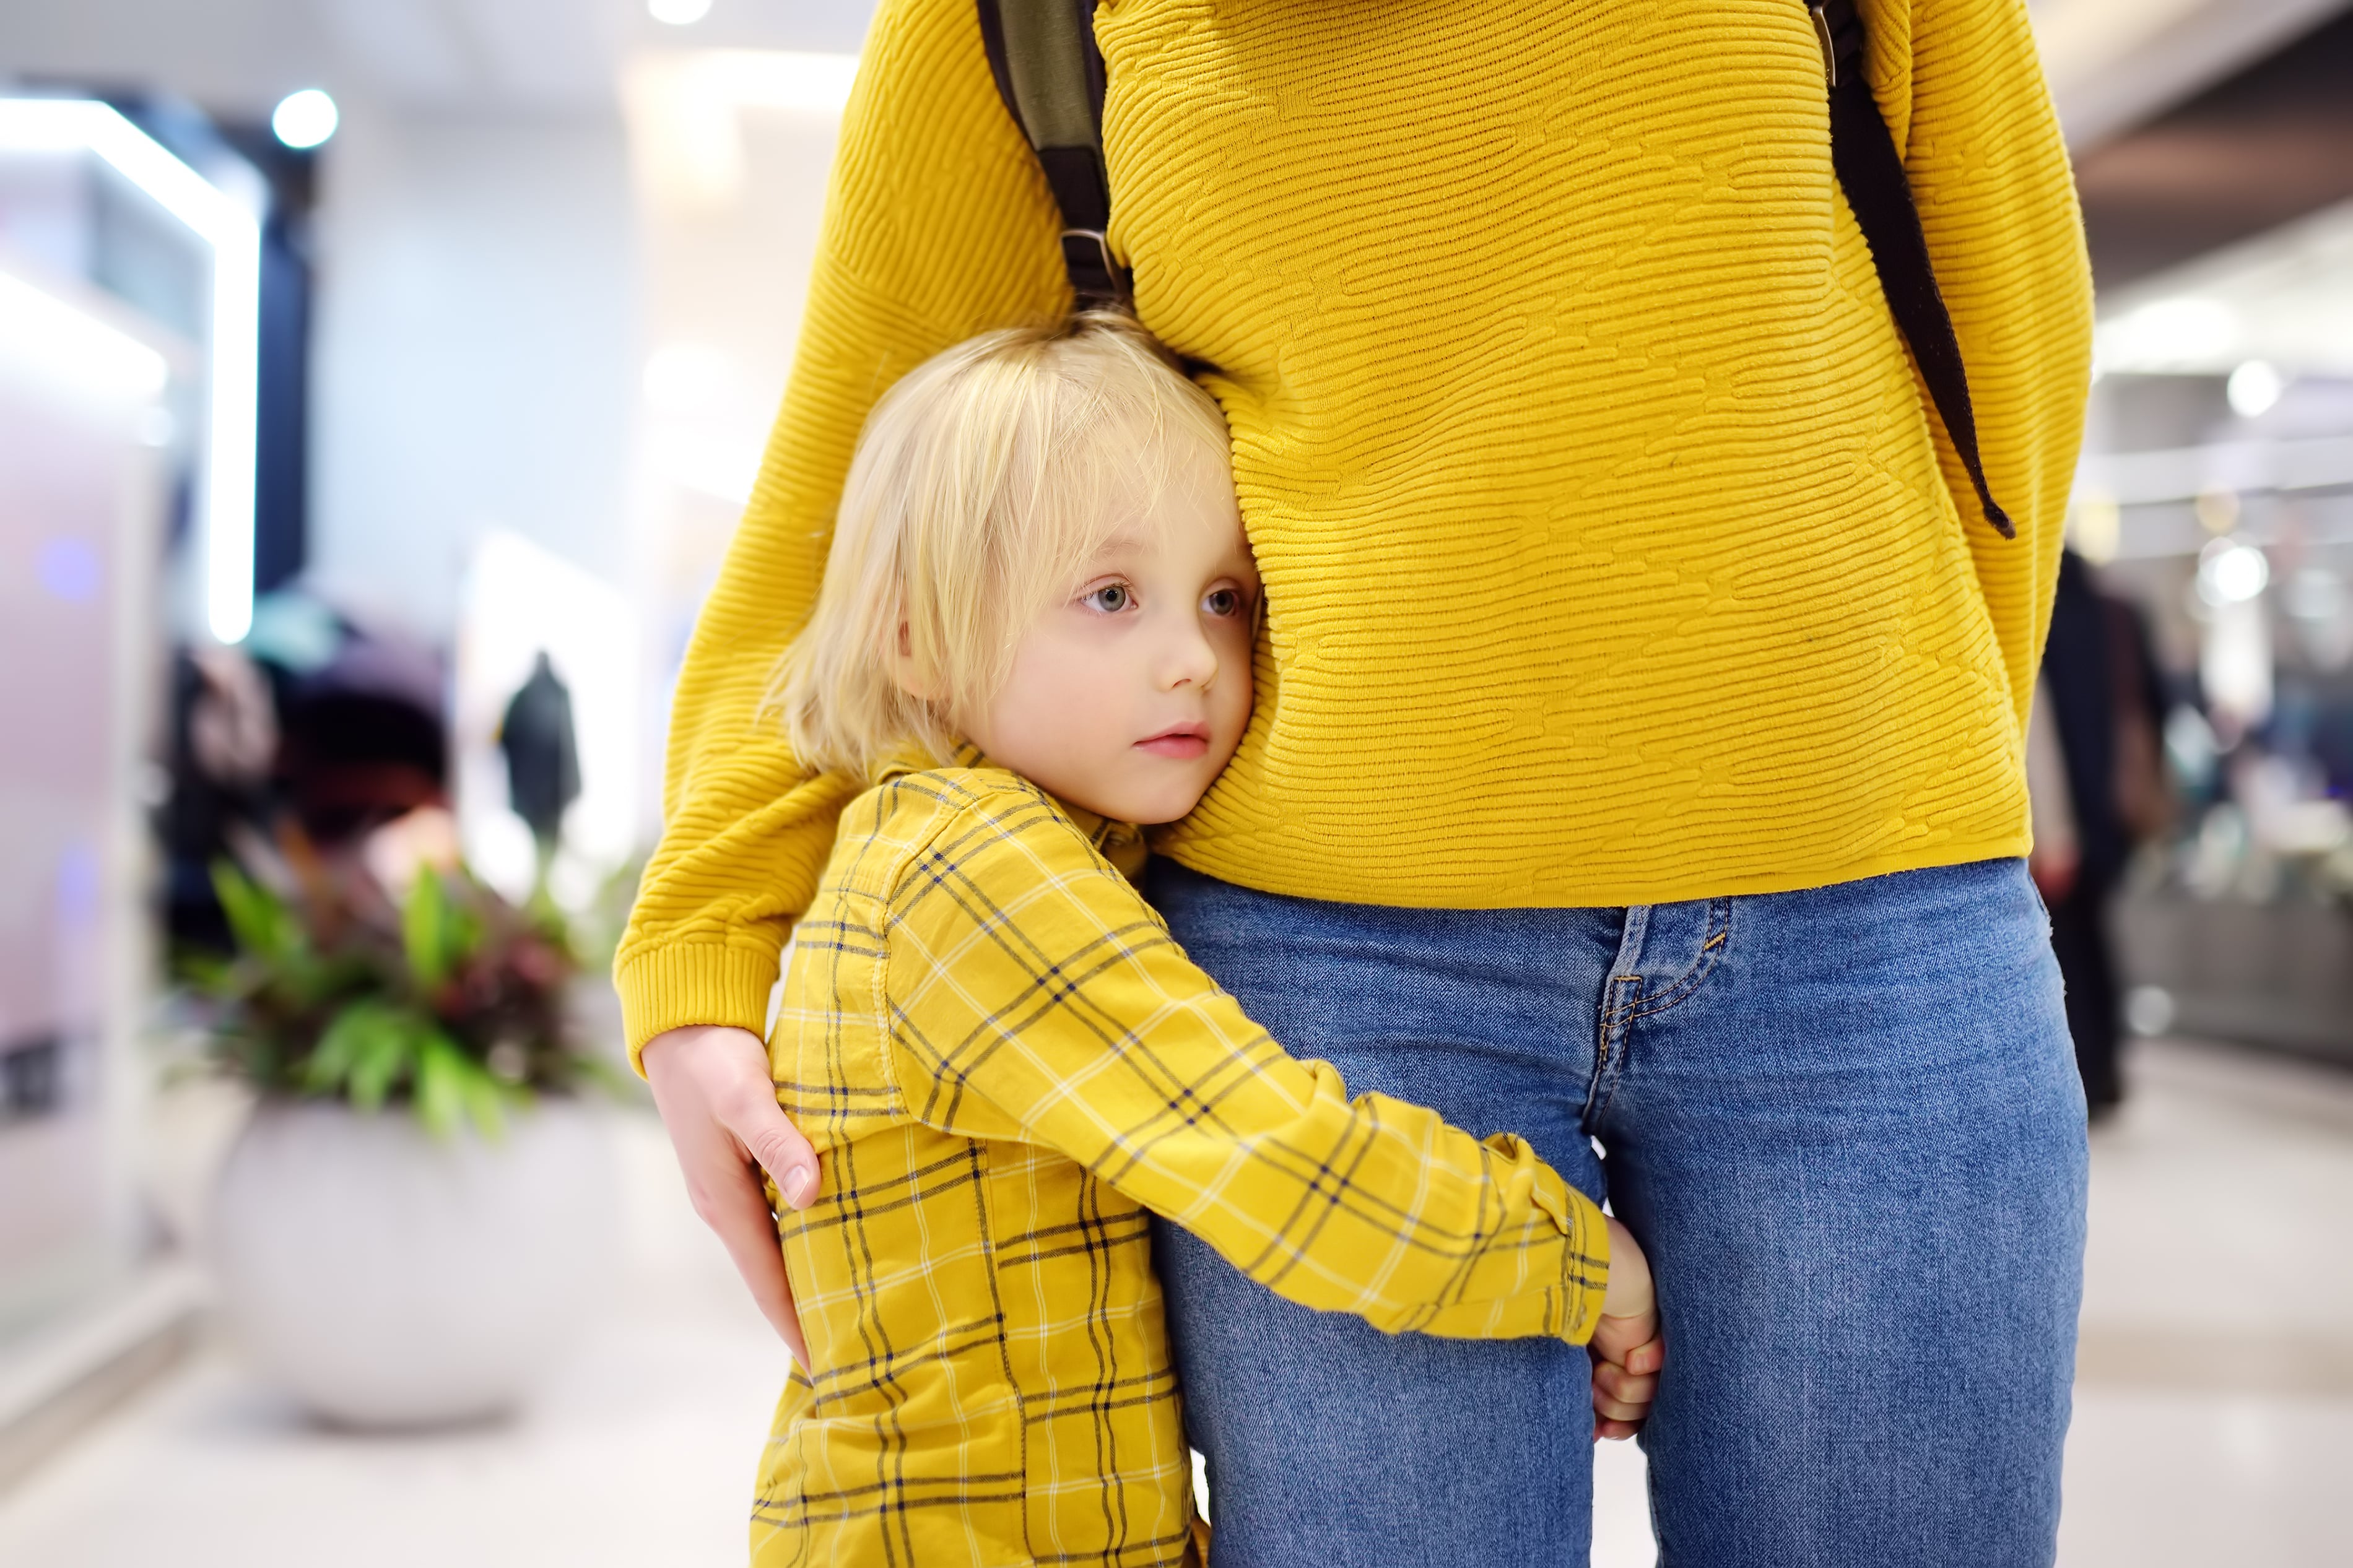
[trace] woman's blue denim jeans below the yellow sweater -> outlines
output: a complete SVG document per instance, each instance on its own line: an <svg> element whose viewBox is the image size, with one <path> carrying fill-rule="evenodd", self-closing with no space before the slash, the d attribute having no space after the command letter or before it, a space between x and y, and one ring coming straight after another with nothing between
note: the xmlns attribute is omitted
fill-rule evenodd
<svg viewBox="0 0 2353 1568"><path fill-rule="evenodd" d="M2052 1561L2085 1121L2024 863L1393 910L1155 860L1151 898L1294 1056L1522 1133L1635 1232L1666 1568ZM1155 1248L1214 1568L1584 1568L1581 1349L1386 1338Z"/></svg>

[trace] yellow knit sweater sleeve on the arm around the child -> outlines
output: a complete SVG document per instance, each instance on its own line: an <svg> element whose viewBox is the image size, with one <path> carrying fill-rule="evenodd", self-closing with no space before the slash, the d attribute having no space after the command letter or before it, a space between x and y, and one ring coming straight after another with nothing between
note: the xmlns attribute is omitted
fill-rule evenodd
<svg viewBox="0 0 2353 1568"><path fill-rule="evenodd" d="M762 712L816 597L859 428L929 355L1066 308L1056 228L972 0L882 0L784 409L678 677L666 825L614 957L633 1060L680 1025L762 1025L776 954L861 788L800 766Z"/></svg>

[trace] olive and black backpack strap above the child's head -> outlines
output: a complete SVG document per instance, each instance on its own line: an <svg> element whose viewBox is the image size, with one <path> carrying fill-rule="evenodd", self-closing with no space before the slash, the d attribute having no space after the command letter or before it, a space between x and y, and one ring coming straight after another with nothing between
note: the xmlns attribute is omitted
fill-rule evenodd
<svg viewBox="0 0 2353 1568"><path fill-rule="evenodd" d="M979 0L979 7L998 94L1061 207L1061 261L1078 308L1125 306L1127 270L1104 237L1111 174L1104 169L1104 52L1094 45L1094 0Z"/></svg>

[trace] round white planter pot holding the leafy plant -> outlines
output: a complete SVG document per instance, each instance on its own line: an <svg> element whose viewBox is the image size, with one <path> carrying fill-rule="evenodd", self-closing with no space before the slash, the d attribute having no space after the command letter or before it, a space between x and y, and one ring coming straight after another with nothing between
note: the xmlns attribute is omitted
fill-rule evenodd
<svg viewBox="0 0 2353 1568"><path fill-rule="evenodd" d="M252 1359L313 1413L421 1427L520 1403L607 1298L612 1150L567 1103L504 1140L402 1107L264 1103L221 1171L212 1251Z"/></svg>

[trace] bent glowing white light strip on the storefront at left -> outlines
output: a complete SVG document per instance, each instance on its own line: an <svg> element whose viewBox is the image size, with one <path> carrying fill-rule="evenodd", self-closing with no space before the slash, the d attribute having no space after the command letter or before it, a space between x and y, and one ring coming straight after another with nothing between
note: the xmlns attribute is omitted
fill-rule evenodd
<svg viewBox="0 0 2353 1568"><path fill-rule="evenodd" d="M94 99L0 99L0 153L92 153L212 247L205 416L205 621L221 642L254 625L254 435L261 357L261 221Z"/></svg>

